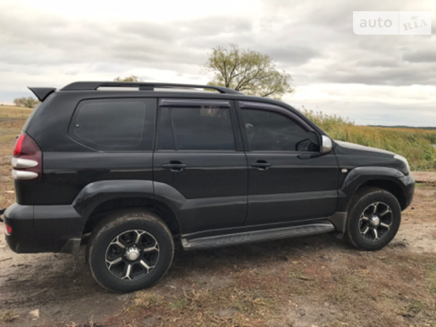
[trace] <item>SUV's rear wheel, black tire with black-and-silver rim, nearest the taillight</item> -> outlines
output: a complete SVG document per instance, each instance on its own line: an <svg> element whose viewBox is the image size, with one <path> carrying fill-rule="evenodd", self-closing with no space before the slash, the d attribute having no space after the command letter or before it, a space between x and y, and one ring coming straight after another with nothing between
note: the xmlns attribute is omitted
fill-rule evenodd
<svg viewBox="0 0 436 327"><path fill-rule="evenodd" d="M97 283L115 292L132 292L153 286L167 273L174 241L156 214L123 210L97 224L87 252Z"/></svg>

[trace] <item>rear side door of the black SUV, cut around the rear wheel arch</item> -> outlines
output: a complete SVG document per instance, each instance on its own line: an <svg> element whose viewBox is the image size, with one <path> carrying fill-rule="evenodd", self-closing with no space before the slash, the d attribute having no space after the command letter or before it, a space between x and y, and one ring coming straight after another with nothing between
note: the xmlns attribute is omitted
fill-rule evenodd
<svg viewBox="0 0 436 327"><path fill-rule="evenodd" d="M160 99L154 181L175 188L183 233L243 225L247 161L231 101Z"/></svg>

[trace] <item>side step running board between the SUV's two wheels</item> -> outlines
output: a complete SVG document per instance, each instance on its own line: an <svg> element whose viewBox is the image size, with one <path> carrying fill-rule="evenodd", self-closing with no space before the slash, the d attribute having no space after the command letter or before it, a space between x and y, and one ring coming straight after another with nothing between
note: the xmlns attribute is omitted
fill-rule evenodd
<svg viewBox="0 0 436 327"><path fill-rule="evenodd" d="M254 243L261 241L279 240L281 238L293 238L298 236L309 236L335 231L331 222L322 224L310 224L305 226L283 227L278 229L267 229L262 231L245 231L219 236L208 236L203 238L181 238L181 245L184 250L198 250L207 248L222 248L224 246Z"/></svg>

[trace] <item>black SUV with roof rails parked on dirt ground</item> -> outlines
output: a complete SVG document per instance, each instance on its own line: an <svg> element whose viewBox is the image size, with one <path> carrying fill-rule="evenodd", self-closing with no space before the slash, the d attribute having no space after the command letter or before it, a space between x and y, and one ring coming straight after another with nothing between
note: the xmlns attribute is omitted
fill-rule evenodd
<svg viewBox="0 0 436 327"><path fill-rule="evenodd" d="M133 89L135 88L135 89ZM71 252L132 291L185 250L334 233L378 250L414 181L399 155L332 141L286 103L219 86L75 82L31 88L18 137L15 252Z"/></svg>

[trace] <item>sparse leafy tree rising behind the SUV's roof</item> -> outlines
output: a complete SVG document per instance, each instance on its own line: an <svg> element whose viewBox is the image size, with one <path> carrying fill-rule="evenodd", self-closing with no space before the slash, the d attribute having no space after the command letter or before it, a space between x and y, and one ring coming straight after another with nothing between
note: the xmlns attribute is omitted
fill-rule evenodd
<svg viewBox="0 0 436 327"><path fill-rule="evenodd" d="M245 94L273 98L293 92L291 76L284 70L277 70L270 56L241 49L236 44L230 44L229 48L213 48L205 68L215 72L209 85L226 86Z"/></svg>

